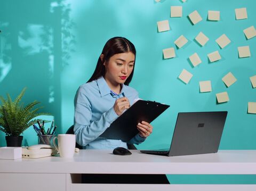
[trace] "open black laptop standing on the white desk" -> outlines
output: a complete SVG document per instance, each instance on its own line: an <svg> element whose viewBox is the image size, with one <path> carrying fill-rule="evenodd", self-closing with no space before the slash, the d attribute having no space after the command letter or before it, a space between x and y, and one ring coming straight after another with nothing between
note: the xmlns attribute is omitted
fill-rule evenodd
<svg viewBox="0 0 256 191"><path fill-rule="evenodd" d="M227 111L178 113L170 149L140 152L166 156L217 153L227 114Z"/></svg>

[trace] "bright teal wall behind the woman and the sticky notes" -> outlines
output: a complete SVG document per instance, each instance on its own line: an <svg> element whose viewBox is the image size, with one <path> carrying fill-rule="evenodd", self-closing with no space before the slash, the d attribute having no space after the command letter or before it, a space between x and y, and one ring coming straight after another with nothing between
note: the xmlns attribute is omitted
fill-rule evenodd
<svg viewBox="0 0 256 191"><path fill-rule="evenodd" d="M175 5L183 6L182 18L170 18L170 6ZM28 87L23 101L40 101L42 111L54 115L57 132L63 133L73 124L76 90L91 77L103 45L111 37L123 36L138 53L130 86L142 99L171 105L152 123L154 133L139 149L169 147L177 113L188 111L228 111L220 149L256 149L256 115L247 114L247 103L256 102L249 79L256 75L256 38L246 40L243 34L245 28L256 27L255 5L253 0L0 1L0 95L15 97ZM235 9L240 7L247 8L248 19L235 20ZM194 10L203 21L193 26L187 15ZM208 10L220 11L220 21L207 21ZM161 20L169 20L170 31L157 32ZM199 31L210 38L204 47L194 40ZM223 49L215 43L222 34L231 40ZM177 49L174 40L180 35L189 42ZM239 59L237 47L247 45L251 57ZM163 60L162 49L169 47L175 47L177 56ZM222 59L209 63L207 54L213 51L219 51ZM202 63L192 68L188 57L195 52ZM182 69L194 74L187 85L177 79ZM237 78L229 88L221 80L228 72ZM198 82L203 80L212 81L211 93L199 93ZM215 94L225 91L230 101L217 104ZM31 129L24 136L29 144L36 141ZM2 132L0 146L5 146ZM191 180L170 177L172 182ZM223 180L203 177L202 182L207 182L205 177ZM254 179L238 176L228 181L250 184Z"/></svg>

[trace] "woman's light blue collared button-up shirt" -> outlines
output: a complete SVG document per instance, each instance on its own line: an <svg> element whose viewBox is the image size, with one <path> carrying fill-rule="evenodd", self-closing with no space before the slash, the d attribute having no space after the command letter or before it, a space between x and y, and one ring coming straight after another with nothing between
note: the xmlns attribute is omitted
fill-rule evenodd
<svg viewBox="0 0 256 191"><path fill-rule="evenodd" d="M118 118L114 110L116 98L103 77L81 85L75 96L74 132L76 142L85 149L127 148L122 140L99 137L110 124ZM132 87L122 85L121 93L129 99L130 105L138 99L138 92ZM129 144L140 144L146 138L137 134Z"/></svg>

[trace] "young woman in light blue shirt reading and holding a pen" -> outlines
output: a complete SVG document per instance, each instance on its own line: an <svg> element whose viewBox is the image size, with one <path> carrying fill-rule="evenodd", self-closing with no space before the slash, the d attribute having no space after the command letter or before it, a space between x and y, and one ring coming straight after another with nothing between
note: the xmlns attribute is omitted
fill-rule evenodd
<svg viewBox="0 0 256 191"><path fill-rule="evenodd" d="M128 86L133 76L135 56L135 47L126 38L109 39L92 77L78 88L75 96L74 132L76 142L83 148L127 148L127 144L140 144L151 134L153 127L142 121L137 125L139 133L127 143L100 136L138 99L137 91Z"/></svg>

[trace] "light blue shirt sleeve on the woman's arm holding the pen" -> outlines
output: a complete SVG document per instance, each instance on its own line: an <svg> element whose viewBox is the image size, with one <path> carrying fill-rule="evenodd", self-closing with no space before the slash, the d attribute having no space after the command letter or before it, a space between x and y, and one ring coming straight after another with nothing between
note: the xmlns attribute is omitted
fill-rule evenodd
<svg viewBox="0 0 256 191"><path fill-rule="evenodd" d="M98 138L118 117L114 107L103 113L99 120L91 121L92 105L86 96L83 88L77 90L75 96L75 115L74 115L74 133L76 142L85 146Z"/></svg>

